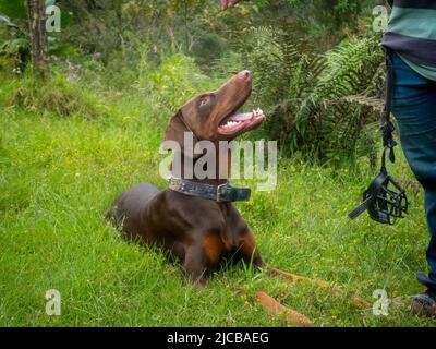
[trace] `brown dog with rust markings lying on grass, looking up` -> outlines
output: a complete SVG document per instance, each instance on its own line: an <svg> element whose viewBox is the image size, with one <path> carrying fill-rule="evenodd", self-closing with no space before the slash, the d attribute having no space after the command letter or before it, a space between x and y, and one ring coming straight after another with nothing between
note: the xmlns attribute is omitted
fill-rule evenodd
<svg viewBox="0 0 436 349"><path fill-rule="evenodd" d="M251 92L252 75L245 70L218 91L191 99L171 118L166 140L180 144L182 161L186 159L183 153L185 132L192 132L196 141L214 142L218 149L219 141L233 140L264 121L262 111L235 113ZM195 161L194 158L193 164ZM228 172L223 166L228 164L216 164L217 172ZM190 181L216 188L226 182L210 178L201 180L195 174ZM263 265L252 231L230 202L138 184L122 193L109 213L129 238L164 246L177 256L193 280L204 280L225 255Z"/></svg>

